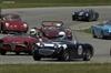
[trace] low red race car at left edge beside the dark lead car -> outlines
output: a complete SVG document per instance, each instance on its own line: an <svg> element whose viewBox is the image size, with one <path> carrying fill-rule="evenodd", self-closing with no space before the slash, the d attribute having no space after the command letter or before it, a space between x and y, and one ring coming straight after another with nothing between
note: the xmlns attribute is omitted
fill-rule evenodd
<svg viewBox="0 0 111 73"><path fill-rule="evenodd" d="M11 33L0 39L0 54L4 55L7 52L21 52L31 54L33 44L38 39L32 38L24 33Z"/></svg>

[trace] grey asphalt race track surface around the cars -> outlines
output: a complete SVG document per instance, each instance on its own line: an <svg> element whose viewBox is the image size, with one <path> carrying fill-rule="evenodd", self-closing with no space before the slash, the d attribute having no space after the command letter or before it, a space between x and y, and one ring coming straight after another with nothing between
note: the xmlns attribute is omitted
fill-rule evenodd
<svg viewBox="0 0 111 73"><path fill-rule="evenodd" d="M80 22L71 20L71 12L79 9L94 9L100 13L100 18L95 22ZM98 24L104 20L111 19L111 7L60 7L60 8L29 8L29 9L4 9L2 13L18 13L21 18L28 22L30 28L40 25L41 21L61 20L67 27L72 30L80 30ZM93 39L91 34L74 31L79 42L90 43L94 46L94 56L91 61L85 63L108 63L111 62L110 48L111 40ZM0 34L0 38L4 36ZM0 64L17 64L17 63L84 63L83 61L74 60L71 62L58 62L56 60L43 59L42 61L33 61L31 55L14 55L14 53L8 53L7 55L0 55Z"/></svg>

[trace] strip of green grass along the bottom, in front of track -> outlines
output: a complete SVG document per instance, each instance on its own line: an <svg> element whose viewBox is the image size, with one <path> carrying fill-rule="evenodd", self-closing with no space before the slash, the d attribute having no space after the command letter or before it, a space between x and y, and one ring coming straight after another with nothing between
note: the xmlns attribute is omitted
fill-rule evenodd
<svg viewBox="0 0 111 73"><path fill-rule="evenodd" d="M0 65L0 73L111 73L108 64L10 64Z"/></svg>

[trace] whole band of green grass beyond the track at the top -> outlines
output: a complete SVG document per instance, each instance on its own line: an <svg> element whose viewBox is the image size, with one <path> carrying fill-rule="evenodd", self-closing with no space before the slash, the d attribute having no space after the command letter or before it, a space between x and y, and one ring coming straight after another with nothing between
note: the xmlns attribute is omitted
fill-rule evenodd
<svg viewBox="0 0 111 73"><path fill-rule="evenodd" d="M109 4L111 4L111 0L2 0L0 6L1 8L36 8Z"/></svg>

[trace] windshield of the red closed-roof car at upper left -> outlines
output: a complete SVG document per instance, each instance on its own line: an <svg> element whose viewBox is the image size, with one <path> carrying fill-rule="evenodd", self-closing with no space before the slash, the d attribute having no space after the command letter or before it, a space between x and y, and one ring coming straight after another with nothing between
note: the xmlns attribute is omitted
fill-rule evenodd
<svg viewBox="0 0 111 73"><path fill-rule="evenodd" d="M3 15L3 20L18 21L18 20L21 20L21 18L18 14L6 14Z"/></svg>

